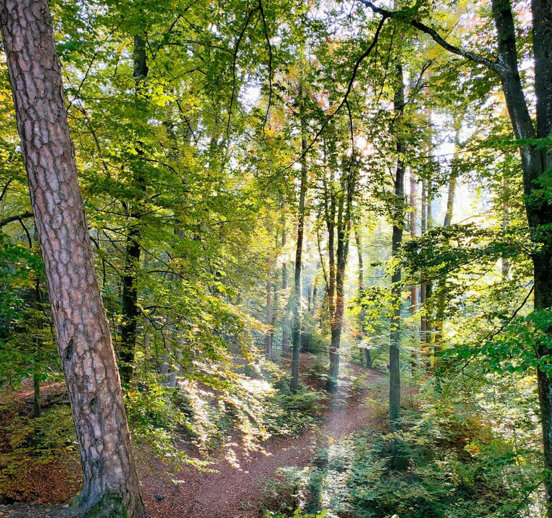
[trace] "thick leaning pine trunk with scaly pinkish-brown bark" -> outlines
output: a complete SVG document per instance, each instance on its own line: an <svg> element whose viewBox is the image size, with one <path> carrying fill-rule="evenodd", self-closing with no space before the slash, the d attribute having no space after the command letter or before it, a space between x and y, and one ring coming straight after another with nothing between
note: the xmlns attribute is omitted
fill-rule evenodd
<svg viewBox="0 0 552 518"><path fill-rule="evenodd" d="M110 516L142 518L146 513L77 180L48 4L3 0L0 6L17 126L80 446L79 503L84 510L111 508Z"/></svg>

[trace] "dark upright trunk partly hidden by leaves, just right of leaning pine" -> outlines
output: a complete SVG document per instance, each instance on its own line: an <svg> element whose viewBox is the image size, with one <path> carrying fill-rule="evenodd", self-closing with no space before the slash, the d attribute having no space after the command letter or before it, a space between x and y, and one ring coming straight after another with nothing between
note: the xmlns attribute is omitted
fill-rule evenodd
<svg viewBox="0 0 552 518"><path fill-rule="evenodd" d="M139 90L140 82L148 75L146 42L141 36L134 37L134 82ZM138 155L141 151L138 150ZM140 166L139 166L140 167ZM141 171L135 174L136 187L145 194L146 182ZM123 269L122 324L121 348L119 351L120 372L123 383L130 383L134 374L134 357L136 355L136 339L138 330L138 269L140 266L140 202L129 207L129 230L125 249L125 264Z"/></svg>

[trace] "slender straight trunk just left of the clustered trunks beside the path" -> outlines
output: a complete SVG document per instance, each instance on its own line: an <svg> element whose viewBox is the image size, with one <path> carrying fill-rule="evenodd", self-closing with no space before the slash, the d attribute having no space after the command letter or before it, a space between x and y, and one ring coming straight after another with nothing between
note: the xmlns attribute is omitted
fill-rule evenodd
<svg viewBox="0 0 552 518"><path fill-rule="evenodd" d="M299 84L299 99L304 103L303 86ZM292 311L292 349L291 359L291 390L297 392L299 388L299 350L301 347L301 270L303 256L303 234L305 227L305 198L307 195L307 128L304 108L301 108L301 185L299 191L299 214L297 220L297 246L295 249L295 286Z"/></svg>

